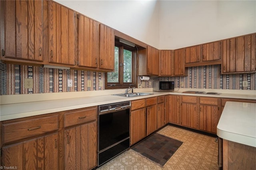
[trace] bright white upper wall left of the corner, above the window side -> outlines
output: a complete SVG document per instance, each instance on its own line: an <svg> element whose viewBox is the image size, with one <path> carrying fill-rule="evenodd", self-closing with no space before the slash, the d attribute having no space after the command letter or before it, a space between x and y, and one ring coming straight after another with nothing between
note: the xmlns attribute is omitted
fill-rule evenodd
<svg viewBox="0 0 256 170"><path fill-rule="evenodd" d="M159 45L156 0L55 0L154 47Z"/></svg>

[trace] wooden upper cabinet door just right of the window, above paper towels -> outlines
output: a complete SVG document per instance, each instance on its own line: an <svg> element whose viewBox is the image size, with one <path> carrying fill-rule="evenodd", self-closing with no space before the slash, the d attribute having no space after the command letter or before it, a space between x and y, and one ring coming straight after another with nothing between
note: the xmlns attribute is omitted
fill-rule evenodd
<svg viewBox="0 0 256 170"><path fill-rule="evenodd" d="M147 46L147 74L158 75L159 73L159 50Z"/></svg>

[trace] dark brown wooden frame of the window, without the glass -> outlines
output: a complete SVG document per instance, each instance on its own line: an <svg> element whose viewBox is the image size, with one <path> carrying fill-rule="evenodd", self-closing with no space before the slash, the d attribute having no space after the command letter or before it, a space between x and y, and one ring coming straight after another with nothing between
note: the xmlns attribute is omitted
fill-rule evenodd
<svg viewBox="0 0 256 170"><path fill-rule="evenodd" d="M137 85L137 49L136 47L130 47L128 45L125 45L120 42L115 42L115 47L119 47L119 62L118 62L118 76L119 76L119 82L118 83L108 83L108 73L105 73L105 89L127 89L136 87ZM124 49L132 51L132 82L131 83L124 83L123 82L123 52ZM120 66L120 63L122 63L122 66ZM115 84L113 86L113 84Z"/></svg>

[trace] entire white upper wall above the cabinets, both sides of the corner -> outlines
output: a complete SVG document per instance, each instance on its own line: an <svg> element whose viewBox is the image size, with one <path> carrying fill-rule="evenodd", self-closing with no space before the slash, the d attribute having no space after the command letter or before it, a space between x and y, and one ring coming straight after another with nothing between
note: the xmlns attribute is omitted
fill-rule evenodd
<svg viewBox="0 0 256 170"><path fill-rule="evenodd" d="M256 32L255 0L56 2L158 49L177 49Z"/></svg>

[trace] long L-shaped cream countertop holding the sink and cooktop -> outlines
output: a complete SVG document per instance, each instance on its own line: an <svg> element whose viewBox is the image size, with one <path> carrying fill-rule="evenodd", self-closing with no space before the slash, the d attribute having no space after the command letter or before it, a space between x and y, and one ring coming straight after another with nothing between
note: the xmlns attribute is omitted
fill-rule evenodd
<svg viewBox="0 0 256 170"><path fill-rule="evenodd" d="M134 92L151 93L151 95L139 97L120 97L113 95L124 93L124 89L0 96L0 121L168 94L256 100L256 91L251 91L250 93L253 93L251 95L249 92L245 93L245 91L238 91L237 93L237 91L231 90L228 91L230 93L224 93L225 91L216 89L192 89L195 91L221 93L220 95L206 95L182 93L182 91L187 91L188 89L175 89L173 92L156 92L152 90L152 88L134 89Z"/></svg>

